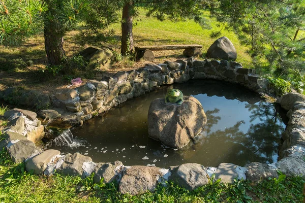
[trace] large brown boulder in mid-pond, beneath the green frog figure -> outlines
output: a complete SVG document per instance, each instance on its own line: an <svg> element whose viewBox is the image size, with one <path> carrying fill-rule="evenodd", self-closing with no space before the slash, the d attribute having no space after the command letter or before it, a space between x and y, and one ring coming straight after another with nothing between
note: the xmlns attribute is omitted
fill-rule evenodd
<svg viewBox="0 0 305 203"><path fill-rule="evenodd" d="M180 149L203 130L206 115L200 102L193 96L184 96L181 105L165 103L157 98L148 110L148 134L165 146Z"/></svg>

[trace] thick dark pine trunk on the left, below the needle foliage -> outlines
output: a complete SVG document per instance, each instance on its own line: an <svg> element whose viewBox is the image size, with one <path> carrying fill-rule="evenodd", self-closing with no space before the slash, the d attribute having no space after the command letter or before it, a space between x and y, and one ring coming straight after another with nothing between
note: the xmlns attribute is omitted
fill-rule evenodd
<svg viewBox="0 0 305 203"><path fill-rule="evenodd" d="M64 35L56 29L60 25L48 24L44 27L45 50L49 65L59 65L65 61Z"/></svg>

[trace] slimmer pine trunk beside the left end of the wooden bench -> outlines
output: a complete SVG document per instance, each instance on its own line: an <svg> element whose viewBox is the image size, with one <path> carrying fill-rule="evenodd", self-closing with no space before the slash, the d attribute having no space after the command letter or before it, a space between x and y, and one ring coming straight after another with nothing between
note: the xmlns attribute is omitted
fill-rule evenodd
<svg viewBox="0 0 305 203"><path fill-rule="evenodd" d="M133 1L128 1L123 7L122 14L122 38L121 38L121 54L126 55L132 52L134 43L132 36L132 20L133 20Z"/></svg>

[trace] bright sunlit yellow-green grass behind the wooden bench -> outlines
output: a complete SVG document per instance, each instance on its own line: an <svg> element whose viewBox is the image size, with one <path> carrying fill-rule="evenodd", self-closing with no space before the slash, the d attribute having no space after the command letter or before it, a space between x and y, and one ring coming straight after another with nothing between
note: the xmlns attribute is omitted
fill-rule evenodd
<svg viewBox="0 0 305 203"><path fill-rule="evenodd" d="M208 13L206 13L205 17L209 18ZM172 22L169 20L159 21L152 17L147 18L145 16L145 10L139 9L139 15L134 19L134 23L137 23L133 27L134 43L135 46L200 44L203 46L201 50L205 54L215 40L226 36L236 48L237 61L245 67L252 67L252 59L247 53L248 47L240 44L234 32L223 29L218 37L210 37L212 32L221 30L222 25L216 21L216 18L209 18L209 20L211 29L203 29L194 20ZM110 28L115 30L115 35L120 35L120 24L114 24ZM182 50L178 52L182 54Z"/></svg>

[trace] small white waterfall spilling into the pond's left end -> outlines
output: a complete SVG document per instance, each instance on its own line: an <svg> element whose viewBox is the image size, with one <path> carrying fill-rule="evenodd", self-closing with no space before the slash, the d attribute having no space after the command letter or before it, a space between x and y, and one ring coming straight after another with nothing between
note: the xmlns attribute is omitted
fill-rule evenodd
<svg viewBox="0 0 305 203"><path fill-rule="evenodd" d="M73 137L70 129L64 130L58 137L56 137L52 144L55 146L68 146L71 148L84 146L85 141Z"/></svg>

